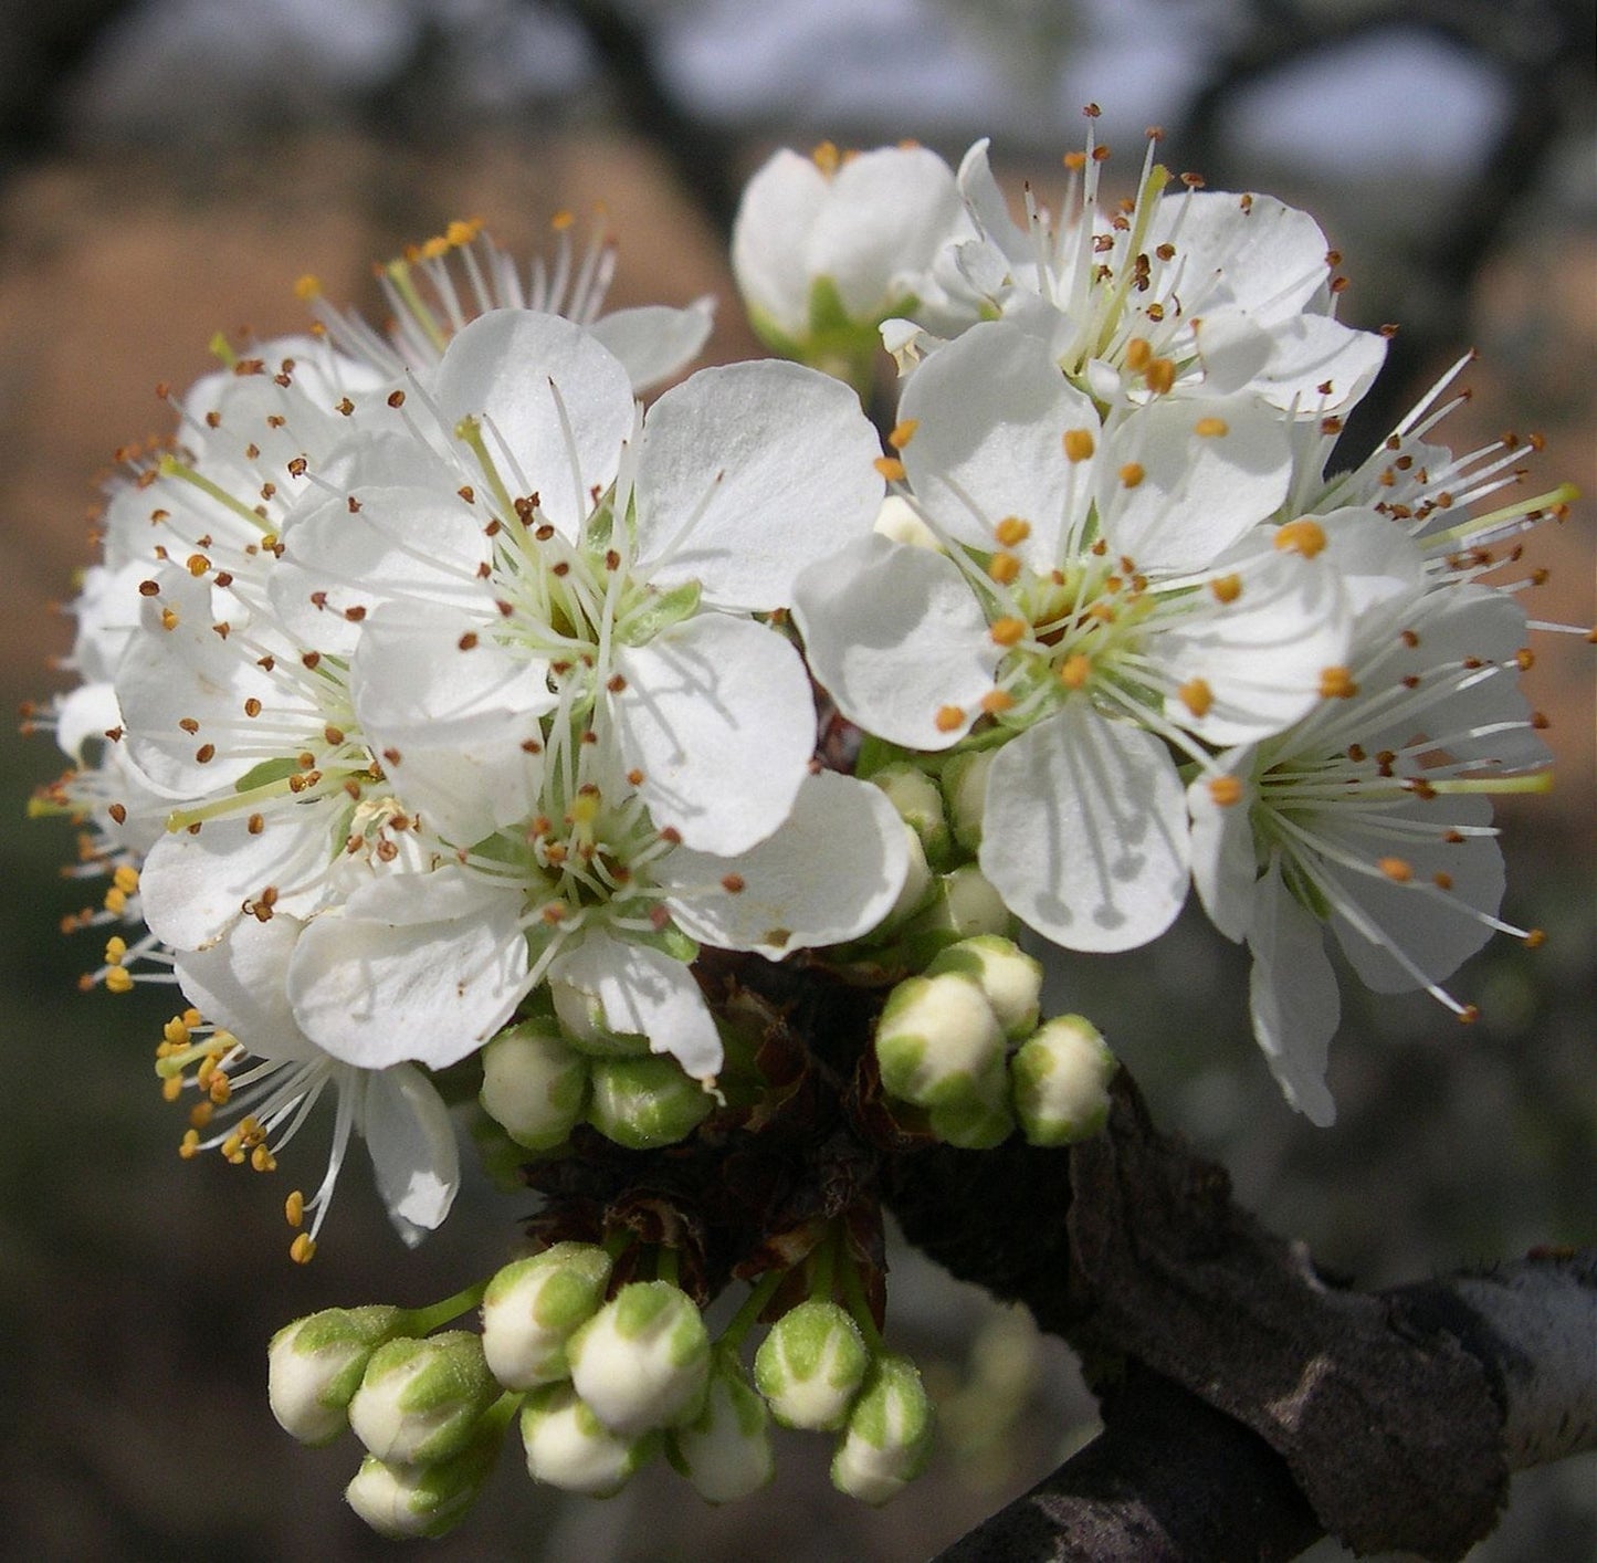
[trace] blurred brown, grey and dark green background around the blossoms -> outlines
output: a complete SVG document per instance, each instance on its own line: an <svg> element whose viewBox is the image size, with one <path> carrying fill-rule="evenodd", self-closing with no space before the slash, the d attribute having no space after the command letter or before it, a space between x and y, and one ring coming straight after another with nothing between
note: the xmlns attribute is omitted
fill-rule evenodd
<svg viewBox="0 0 1597 1563"><path fill-rule="evenodd" d="M209 369L217 329L300 327L302 273L375 311L371 262L449 219L482 217L530 255L569 209L620 241L613 303L714 294L709 358L744 358L725 238L775 145L915 137L955 161L989 134L1014 187L1046 198L1088 101L1124 177L1159 123L1174 168L1319 217L1351 278L1343 318L1402 324L1361 452L1474 345L1453 447L1536 431L1543 485L1597 493L1592 38L1589 0L0 0L5 693L14 707L64 687L51 658L70 623L50 603L91 559L112 452L168 428L155 383ZM1589 505L1543 528L1532 615L1591 624L1592 557ZM1471 1030L1425 998L1349 993L1333 1129L1279 1100L1238 952L1207 928L1057 974L1161 1121L1359 1285L1597 1239L1592 651L1535 647L1559 779L1501 811L1504 910L1547 942L1498 940L1466 967ZM48 736L0 754L6 1547L386 1555L339 1496L353 1445L302 1450L271 1421L265 1341L315 1308L455 1292L509 1255L527 1199L473 1186L407 1255L351 1157L316 1261L291 1264L278 1180L176 1156L184 1119L150 1070L161 993L77 991L97 940L56 926L93 888L59 876L70 829L24 819L61 757ZM291 1178L319 1175L313 1143L294 1154ZM730 1510L664 1469L607 1504L567 1501L508 1458L430 1555L896 1563L947 1545L1089 1437L1092 1402L1022 1314L910 1252L893 1263L890 1338L926 1367L944 1423L933 1475L898 1504L835 1498L821 1440L797 1435L776 1486ZM1586 1458L1520 1478L1474 1557L1587 1557L1594 1539Z"/></svg>

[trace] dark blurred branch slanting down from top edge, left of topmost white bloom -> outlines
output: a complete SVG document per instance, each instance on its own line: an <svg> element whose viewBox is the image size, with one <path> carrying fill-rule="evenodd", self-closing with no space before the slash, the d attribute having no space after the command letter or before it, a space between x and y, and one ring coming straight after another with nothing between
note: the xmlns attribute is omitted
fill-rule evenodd
<svg viewBox="0 0 1597 1563"><path fill-rule="evenodd" d="M660 153L725 246L741 193L738 139L690 113L669 91L636 10L607 0L564 0L564 8L581 26L626 126Z"/></svg>

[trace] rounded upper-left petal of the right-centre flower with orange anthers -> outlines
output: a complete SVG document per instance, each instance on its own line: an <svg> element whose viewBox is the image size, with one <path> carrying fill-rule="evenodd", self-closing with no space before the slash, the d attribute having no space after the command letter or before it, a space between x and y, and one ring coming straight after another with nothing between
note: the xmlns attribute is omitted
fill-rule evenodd
<svg viewBox="0 0 1597 1563"><path fill-rule="evenodd" d="M1086 516L1097 465L1067 460L1064 436L1100 439L1092 401L1041 342L1008 321L973 326L915 370L899 417L917 425L902 450L910 487L953 536L990 549L993 525L1017 516L1032 527L1017 552L1043 570L1056 564L1062 530Z"/></svg>

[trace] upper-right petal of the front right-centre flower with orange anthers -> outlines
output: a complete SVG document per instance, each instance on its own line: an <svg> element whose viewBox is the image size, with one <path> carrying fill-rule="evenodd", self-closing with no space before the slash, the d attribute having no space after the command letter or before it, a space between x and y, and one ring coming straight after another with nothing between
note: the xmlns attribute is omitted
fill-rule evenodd
<svg viewBox="0 0 1597 1563"><path fill-rule="evenodd" d="M1287 495L1287 425L1250 396L1167 398L1112 420L1105 437L1115 461L1099 474L1104 535L1143 570L1204 568ZM1142 468L1132 489L1124 463Z"/></svg>

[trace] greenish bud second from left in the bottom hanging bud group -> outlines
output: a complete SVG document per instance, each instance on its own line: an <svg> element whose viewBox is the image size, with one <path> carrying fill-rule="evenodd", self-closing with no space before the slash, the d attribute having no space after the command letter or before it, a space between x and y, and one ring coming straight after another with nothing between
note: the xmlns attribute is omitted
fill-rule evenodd
<svg viewBox="0 0 1597 1563"><path fill-rule="evenodd" d="M470 1330L388 1341L350 1400L350 1426L380 1461L428 1466L465 1448L498 1392Z"/></svg>

